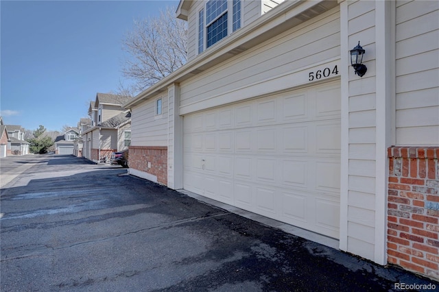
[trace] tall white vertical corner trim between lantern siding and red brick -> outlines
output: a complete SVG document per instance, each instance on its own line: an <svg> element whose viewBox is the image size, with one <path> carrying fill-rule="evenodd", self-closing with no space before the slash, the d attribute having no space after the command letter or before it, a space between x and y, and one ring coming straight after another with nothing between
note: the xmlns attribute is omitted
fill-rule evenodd
<svg viewBox="0 0 439 292"><path fill-rule="evenodd" d="M387 264L387 147L392 142L394 116L394 26L393 1L375 2L376 62L376 144L375 144L375 263Z"/></svg>

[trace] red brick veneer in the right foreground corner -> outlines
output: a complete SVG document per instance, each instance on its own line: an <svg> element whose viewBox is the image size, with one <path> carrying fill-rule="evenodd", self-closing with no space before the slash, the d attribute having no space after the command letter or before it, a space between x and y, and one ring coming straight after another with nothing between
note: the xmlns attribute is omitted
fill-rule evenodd
<svg viewBox="0 0 439 292"><path fill-rule="evenodd" d="M388 262L439 280L439 147L390 147Z"/></svg>

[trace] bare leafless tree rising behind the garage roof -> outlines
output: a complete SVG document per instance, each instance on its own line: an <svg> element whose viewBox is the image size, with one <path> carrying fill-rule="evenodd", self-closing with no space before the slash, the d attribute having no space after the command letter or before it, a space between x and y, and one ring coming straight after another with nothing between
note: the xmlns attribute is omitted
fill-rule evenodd
<svg viewBox="0 0 439 292"><path fill-rule="evenodd" d="M187 23L177 19L175 8L167 7L156 17L134 21L132 32L122 40L130 58L123 61L122 73L134 80L119 92L134 96L187 62Z"/></svg>

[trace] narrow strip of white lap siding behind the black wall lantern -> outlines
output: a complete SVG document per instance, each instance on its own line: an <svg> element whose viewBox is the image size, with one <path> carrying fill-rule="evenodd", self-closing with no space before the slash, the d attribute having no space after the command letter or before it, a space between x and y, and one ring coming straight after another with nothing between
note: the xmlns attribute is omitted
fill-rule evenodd
<svg viewBox="0 0 439 292"><path fill-rule="evenodd" d="M375 204L361 205L357 200L375 202L376 84L375 57L370 53L375 51L375 1L349 4L348 44L353 49L361 41L368 71L358 77L351 66L348 69L347 245L348 252L374 258Z"/></svg>

